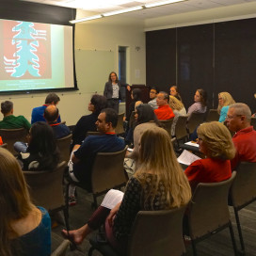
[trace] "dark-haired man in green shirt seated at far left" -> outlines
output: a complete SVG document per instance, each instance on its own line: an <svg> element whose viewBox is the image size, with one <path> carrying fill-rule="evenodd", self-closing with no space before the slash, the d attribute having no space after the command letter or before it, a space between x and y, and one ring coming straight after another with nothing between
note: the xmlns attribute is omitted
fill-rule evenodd
<svg viewBox="0 0 256 256"><path fill-rule="evenodd" d="M18 129L25 128L29 130L31 125L24 116L13 116L13 103L6 101L1 103L1 112L4 119L0 121L0 129Z"/></svg>

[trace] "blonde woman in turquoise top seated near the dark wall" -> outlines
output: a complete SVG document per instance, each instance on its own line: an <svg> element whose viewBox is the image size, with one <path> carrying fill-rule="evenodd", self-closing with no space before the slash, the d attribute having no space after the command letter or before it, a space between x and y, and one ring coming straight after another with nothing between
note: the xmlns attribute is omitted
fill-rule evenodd
<svg viewBox="0 0 256 256"><path fill-rule="evenodd" d="M219 114L219 122L226 120L227 113L231 104L235 104L235 101L229 92L223 91L218 93L217 112Z"/></svg>

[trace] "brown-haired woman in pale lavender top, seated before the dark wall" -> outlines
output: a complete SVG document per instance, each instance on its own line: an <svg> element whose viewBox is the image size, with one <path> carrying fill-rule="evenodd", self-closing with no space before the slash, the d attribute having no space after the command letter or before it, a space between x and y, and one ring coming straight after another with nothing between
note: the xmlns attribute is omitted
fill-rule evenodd
<svg viewBox="0 0 256 256"><path fill-rule="evenodd" d="M195 103L190 105L187 110L187 115L191 115L192 113L205 113L207 110L207 93L202 88L198 88L195 96ZM188 117L189 120L189 117Z"/></svg>

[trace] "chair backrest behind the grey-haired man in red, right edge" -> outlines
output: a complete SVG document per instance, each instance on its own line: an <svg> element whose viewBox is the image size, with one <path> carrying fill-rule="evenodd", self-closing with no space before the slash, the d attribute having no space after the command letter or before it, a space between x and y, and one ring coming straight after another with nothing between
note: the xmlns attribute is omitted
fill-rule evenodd
<svg viewBox="0 0 256 256"><path fill-rule="evenodd" d="M243 208L256 200L256 163L242 162L230 190L232 205Z"/></svg>

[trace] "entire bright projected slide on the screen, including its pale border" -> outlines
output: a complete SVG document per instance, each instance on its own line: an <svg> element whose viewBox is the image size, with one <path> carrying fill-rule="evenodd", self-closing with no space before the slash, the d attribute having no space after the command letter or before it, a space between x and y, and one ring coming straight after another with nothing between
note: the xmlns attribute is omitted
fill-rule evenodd
<svg viewBox="0 0 256 256"><path fill-rule="evenodd" d="M0 91L73 88L72 27L0 20Z"/></svg>

